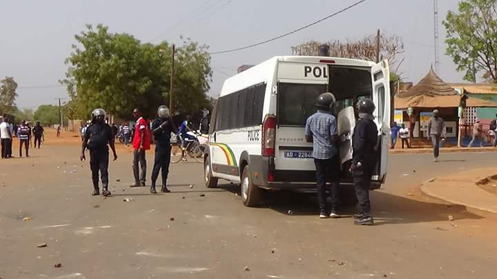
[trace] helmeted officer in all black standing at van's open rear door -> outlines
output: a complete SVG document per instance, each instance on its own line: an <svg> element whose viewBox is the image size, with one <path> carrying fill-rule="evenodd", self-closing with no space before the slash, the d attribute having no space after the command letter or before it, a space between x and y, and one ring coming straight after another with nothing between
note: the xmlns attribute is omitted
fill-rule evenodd
<svg viewBox="0 0 497 279"><path fill-rule="evenodd" d="M371 99L362 99L358 102L357 107L359 120L355 123L352 137L351 171L360 211L353 217L355 225L373 225L371 203L369 203L369 184L377 161L378 129L373 122L375 105Z"/></svg>

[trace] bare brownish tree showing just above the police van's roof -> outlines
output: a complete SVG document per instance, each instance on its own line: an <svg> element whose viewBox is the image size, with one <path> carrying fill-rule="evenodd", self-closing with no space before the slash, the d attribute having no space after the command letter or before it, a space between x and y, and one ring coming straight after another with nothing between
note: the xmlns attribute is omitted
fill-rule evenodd
<svg viewBox="0 0 497 279"><path fill-rule="evenodd" d="M293 55L318 56L320 45L329 45L330 56L363 59L376 61L376 34L370 34L358 40L340 40L332 39L328 42L308 41L291 47ZM398 68L402 61L397 61L398 56L404 53L404 43L402 38L397 35L388 36L380 34L380 60L387 59L391 70L400 76ZM394 70L394 68L396 68Z"/></svg>

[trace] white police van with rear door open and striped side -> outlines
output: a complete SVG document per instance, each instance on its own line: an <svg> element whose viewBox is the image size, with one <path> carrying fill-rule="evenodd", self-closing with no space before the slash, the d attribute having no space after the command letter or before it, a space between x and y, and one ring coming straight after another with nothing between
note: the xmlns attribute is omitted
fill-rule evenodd
<svg viewBox="0 0 497 279"><path fill-rule="evenodd" d="M246 206L258 205L261 188L315 187L312 143L305 141L304 126L324 92L337 99L335 115L349 112L338 118L340 136L349 142L340 147L347 149L340 150L343 185L352 181L347 165L355 123L352 107L359 99L373 99L380 141L371 188L379 188L387 175L388 63L322 56L276 56L226 79L211 115L206 187L216 187L219 178L240 183Z"/></svg>

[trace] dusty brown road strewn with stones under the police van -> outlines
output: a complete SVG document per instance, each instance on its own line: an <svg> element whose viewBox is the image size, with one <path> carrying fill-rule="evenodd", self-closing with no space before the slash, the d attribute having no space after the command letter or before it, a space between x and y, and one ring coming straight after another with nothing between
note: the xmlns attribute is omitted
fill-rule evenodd
<svg viewBox="0 0 497 279"><path fill-rule="evenodd" d="M493 164L494 154L440 163L391 155L388 183L372 193L377 225L357 227L317 218L313 194L271 193L262 207L243 207L236 185L206 189L198 163L171 166L170 194L132 189L122 146L110 164L113 196L92 197L77 144L50 136L31 158L0 161L0 278L496 277L496 217L425 200L416 188Z"/></svg>

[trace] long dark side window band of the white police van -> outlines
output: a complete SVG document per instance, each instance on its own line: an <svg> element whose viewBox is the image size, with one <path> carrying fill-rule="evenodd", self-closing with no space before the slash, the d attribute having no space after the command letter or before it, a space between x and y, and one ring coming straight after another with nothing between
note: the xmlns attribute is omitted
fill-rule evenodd
<svg viewBox="0 0 497 279"><path fill-rule="evenodd" d="M222 96L217 101L215 130L233 130L262 124L266 83Z"/></svg>

